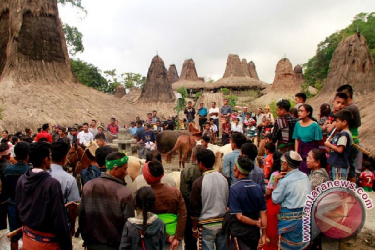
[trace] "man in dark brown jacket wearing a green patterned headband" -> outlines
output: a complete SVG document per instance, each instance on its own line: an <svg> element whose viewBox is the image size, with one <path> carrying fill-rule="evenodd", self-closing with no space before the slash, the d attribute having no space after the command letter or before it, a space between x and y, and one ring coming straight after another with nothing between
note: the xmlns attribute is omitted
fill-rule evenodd
<svg viewBox="0 0 375 250"><path fill-rule="evenodd" d="M108 154L107 173L85 184L81 196L79 225L87 249L118 249L128 218L134 217L133 196L124 182L129 157Z"/></svg>

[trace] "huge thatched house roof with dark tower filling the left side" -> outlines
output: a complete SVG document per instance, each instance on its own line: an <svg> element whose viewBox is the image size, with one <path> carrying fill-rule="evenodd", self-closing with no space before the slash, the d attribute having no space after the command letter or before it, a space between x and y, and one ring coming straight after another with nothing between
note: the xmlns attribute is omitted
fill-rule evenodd
<svg viewBox="0 0 375 250"><path fill-rule="evenodd" d="M147 112L78 82L57 0L0 1L0 85L0 129L9 131L111 117L124 124Z"/></svg>

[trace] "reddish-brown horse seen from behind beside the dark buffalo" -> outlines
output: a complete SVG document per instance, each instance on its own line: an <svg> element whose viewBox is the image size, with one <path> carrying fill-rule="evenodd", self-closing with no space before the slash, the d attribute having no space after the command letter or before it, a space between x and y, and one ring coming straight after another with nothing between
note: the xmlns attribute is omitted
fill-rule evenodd
<svg viewBox="0 0 375 250"><path fill-rule="evenodd" d="M187 156L191 153L193 147L196 144L196 140L200 140L202 138L202 131L195 127L194 123L189 123L187 129L192 132L192 135L180 135L176 141L174 147L165 154L166 161L171 162L171 158L173 153L178 150L178 166L181 168L185 168L185 162L187 160ZM182 156L183 154L183 156Z"/></svg>

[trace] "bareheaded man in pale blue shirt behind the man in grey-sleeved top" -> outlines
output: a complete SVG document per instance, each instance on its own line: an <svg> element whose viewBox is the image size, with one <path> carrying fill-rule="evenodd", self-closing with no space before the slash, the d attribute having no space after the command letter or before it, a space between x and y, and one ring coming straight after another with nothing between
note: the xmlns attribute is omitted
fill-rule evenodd
<svg viewBox="0 0 375 250"><path fill-rule="evenodd" d="M241 153L241 146L246 142L246 137L242 133L234 132L230 139L233 152L226 154L223 159L223 174L229 177L231 185L236 182L233 174L234 163Z"/></svg>

